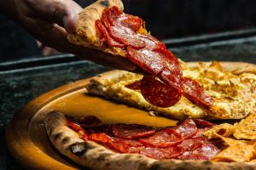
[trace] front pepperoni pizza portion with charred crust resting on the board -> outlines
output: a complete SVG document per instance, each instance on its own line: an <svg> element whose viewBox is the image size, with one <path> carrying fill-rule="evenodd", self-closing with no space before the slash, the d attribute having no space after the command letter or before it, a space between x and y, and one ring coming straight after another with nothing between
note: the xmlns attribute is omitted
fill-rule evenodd
<svg viewBox="0 0 256 170"><path fill-rule="evenodd" d="M174 127L104 124L96 116L46 114L44 125L61 154L92 169L253 169L255 140L203 134L215 124L185 119ZM212 128L213 127L213 128ZM234 162L230 162L234 161ZM249 162L252 161L252 162Z"/></svg>

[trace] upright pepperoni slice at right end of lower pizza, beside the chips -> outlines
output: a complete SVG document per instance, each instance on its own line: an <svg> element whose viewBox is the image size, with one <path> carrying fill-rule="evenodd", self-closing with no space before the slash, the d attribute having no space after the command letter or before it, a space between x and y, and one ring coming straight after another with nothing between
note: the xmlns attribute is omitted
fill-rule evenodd
<svg viewBox="0 0 256 170"><path fill-rule="evenodd" d="M192 119L186 119L182 124L177 127L173 127L177 133L181 134L183 139L189 139L195 135L197 127Z"/></svg>

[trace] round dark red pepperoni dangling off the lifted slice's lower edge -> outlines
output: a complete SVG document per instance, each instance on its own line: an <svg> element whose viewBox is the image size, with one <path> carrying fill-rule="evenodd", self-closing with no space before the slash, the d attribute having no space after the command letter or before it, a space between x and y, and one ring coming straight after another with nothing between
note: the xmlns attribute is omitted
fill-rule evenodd
<svg viewBox="0 0 256 170"><path fill-rule="evenodd" d="M181 98L181 93L176 88L152 76L143 77L141 93L148 103L159 107L175 105Z"/></svg>

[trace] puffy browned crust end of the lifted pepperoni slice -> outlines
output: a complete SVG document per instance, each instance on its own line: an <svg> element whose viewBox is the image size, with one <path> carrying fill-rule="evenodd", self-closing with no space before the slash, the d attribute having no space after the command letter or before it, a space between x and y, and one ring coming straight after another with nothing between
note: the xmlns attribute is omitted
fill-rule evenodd
<svg viewBox="0 0 256 170"><path fill-rule="evenodd" d="M69 33L67 39L74 44L84 48L94 48L103 52L125 57L125 50L122 48L107 48L97 36L95 22L101 20L105 8L116 6L120 11L124 10L120 0L98 0L79 13L79 25L74 33Z"/></svg>

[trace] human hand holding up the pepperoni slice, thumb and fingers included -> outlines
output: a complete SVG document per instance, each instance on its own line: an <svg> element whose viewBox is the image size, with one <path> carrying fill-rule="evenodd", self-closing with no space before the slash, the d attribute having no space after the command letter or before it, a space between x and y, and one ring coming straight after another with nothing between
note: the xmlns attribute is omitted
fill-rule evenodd
<svg viewBox="0 0 256 170"><path fill-rule="evenodd" d="M15 19L44 45L102 65L130 71L136 68L136 65L127 59L113 57L111 54L83 48L67 41L67 32L76 30L79 22L78 14L82 11L79 4L73 0L12 1L15 6Z"/></svg>

